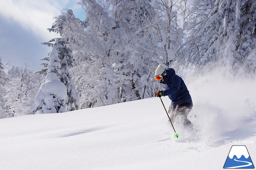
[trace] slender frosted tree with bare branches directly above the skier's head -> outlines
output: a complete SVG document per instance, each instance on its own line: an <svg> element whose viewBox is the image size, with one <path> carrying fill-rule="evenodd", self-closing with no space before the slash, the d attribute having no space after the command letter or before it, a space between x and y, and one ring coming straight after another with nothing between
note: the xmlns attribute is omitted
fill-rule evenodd
<svg viewBox="0 0 256 170"><path fill-rule="evenodd" d="M171 67L180 56L177 51L182 45L184 33L179 25L178 0L155 0L155 19L152 31L159 43L163 46L162 63ZM159 64L162 64L159 63Z"/></svg>

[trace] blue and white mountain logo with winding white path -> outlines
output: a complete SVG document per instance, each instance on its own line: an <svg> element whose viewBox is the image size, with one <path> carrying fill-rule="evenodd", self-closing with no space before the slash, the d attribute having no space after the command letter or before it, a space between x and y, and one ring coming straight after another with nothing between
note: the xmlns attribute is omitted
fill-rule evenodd
<svg viewBox="0 0 256 170"><path fill-rule="evenodd" d="M249 152L244 145L233 145L229 151L227 160L223 168L248 168L254 169Z"/></svg>

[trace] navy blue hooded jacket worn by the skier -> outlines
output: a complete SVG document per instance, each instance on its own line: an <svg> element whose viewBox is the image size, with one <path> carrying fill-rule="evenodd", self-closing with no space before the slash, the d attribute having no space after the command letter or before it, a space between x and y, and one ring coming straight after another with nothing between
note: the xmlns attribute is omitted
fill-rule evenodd
<svg viewBox="0 0 256 170"><path fill-rule="evenodd" d="M166 85L166 90L161 91L161 93L162 96L168 96L171 99L172 108L176 108L180 103L193 104L187 86L182 78L175 74L173 68L168 68L165 71L167 75L161 83Z"/></svg>

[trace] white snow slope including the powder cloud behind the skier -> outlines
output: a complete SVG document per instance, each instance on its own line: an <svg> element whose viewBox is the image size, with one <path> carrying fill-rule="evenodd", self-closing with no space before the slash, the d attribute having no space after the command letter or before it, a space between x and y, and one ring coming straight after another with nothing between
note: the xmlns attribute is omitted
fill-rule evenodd
<svg viewBox="0 0 256 170"><path fill-rule="evenodd" d="M256 163L255 79L216 72L185 83L195 133L174 124L174 138L157 97L0 119L0 169L217 170L233 145L245 145ZM162 99L168 108L169 98Z"/></svg>

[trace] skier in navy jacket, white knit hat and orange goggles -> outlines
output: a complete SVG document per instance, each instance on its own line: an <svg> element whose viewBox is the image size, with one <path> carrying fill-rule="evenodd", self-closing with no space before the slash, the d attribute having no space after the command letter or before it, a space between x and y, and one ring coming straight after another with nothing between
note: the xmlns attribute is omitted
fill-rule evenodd
<svg viewBox="0 0 256 170"><path fill-rule="evenodd" d="M166 86L166 90L156 91L156 96L168 96L171 99L168 110L171 120L180 121L184 126L193 128L187 118L193 103L182 78L175 74L173 68L164 69L162 65L158 65L155 70L155 79Z"/></svg>

